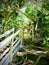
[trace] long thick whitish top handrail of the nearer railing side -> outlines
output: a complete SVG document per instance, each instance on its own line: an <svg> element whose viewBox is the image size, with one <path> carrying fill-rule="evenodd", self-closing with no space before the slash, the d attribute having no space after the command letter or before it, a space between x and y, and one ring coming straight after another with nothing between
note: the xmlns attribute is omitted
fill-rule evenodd
<svg viewBox="0 0 49 65"><path fill-rule="evenodd" d="M12 38L14 38L16 35L18 35L20 33L20 31L21 30L18 30L16 33L10 35L5 40L3 40L2 42L0 42L0 49L3 49Z"/></svg>

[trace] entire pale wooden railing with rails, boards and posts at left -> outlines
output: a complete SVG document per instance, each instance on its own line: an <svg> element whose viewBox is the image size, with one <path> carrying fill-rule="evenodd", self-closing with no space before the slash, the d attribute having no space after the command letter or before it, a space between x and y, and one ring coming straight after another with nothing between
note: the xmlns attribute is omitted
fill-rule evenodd
<svg viewBox="0 0 49 65"><path fill-rule="evenodd" d="M21 30L18 30L14 33L14 28L12 28L11 30L0 35L0 39L6 37L3 41L0 42L0 65L8 65L8 63L12 62L13 56L16 53L22 40L20 36L15 40L14 38L20 32ZM7 37L7 35L9 36Z"/></svg>

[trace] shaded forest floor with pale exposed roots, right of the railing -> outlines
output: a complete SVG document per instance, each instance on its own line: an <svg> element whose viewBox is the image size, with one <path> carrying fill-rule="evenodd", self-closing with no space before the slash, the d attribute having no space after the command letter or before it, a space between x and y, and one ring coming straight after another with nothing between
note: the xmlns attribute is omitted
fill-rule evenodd
<svg viewBox="0 0 49 65"><path fill-rule="evenodd" d="M49 65L48 48L37 44L32 42L31 36L25 36L23 45L14 56L13 65Z"/></svg>

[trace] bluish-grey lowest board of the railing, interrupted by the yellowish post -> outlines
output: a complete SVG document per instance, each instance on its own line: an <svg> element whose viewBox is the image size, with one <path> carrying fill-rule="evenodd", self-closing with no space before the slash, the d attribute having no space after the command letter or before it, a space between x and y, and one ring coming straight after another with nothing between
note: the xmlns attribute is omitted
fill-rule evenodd
<svg viewBox="0 0 49 65"><path fill-rule="evenodd" d="M13 46L13 55L16 53L18 45L20 44L21 38L15 43L15 45ZM0 62L0 65L8 65L8 63L10 62L10 52L8 52L6 54L6 56L2 59L2 61Z"/></svg>

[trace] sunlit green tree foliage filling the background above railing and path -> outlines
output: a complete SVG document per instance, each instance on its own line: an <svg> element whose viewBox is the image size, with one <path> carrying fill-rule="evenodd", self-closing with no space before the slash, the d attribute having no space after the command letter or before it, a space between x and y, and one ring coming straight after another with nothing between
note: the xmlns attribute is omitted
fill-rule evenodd
<svg viewBox="0 0 49 65"><path fill-rule="evenodd" d="M25 12L19 9L24 5L25 0L0 0L0 33L14 27L26 28L32 21L34 24L35 36L41 38L49 37L49 3L31 4L27 3ZM31 23L32 23L31 22Z"/></svg>

